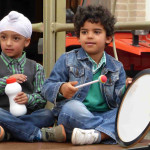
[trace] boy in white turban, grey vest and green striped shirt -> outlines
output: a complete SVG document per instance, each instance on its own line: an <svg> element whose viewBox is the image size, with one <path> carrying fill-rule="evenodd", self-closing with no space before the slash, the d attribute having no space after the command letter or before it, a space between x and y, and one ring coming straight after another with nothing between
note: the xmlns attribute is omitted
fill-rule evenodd
<svg viewBox="0 0 150 150"><path fill-rule="evenodd" d="M13 137L27 142L64 142L66 134L62 125L43 128L53 126L55 119L50 110L43 109L46 104L41 96L45 80L43 67L27 59L23 51L30 44L31 34L31 22L16 11L0 21L0 141ZM26 105L26 115L15 117L9 112L9 100L4 91L9 77L15 77L22 86L22 92L14 100Z"/></svg>

